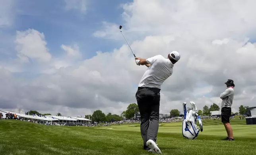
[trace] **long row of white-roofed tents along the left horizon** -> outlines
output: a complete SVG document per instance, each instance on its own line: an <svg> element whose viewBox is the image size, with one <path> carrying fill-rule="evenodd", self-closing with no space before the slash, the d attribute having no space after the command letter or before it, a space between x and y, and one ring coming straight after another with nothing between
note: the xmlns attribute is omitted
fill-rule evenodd
<svg viewBox="0 0 256 155"><path fill-rule="evenodd" d="M45 121L52 122L52 123L73 123L73 124L91 124L90 119L86 119L83 117L66 117L66 116L52 116L52 115L45 115L45 116L38 116L38 115L26 115L22 113L16 113L16 112L8 112L5 110L0 110L0 112L3 115L3 118L6 118L6 113L13 113L16 114L19 119L24 119L24 120L35 120L40 123L45 123Z"/></svg>

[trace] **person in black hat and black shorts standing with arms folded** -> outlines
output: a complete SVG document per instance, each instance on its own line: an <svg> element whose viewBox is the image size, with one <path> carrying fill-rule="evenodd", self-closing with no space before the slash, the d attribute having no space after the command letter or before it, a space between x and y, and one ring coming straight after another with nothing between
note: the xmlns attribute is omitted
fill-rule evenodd
<svg viewBox="0 0 256 155"><path fill-rule="evenodd" d="M227 137L223 140L234 140L233 138L233 131L232 127L229 124L229 118L231 116L231 106L233 104L233 98L234 98L234 81L232 79L228 79L227 82L225 82L227 85L227 89L221 93L220 98L222 99L221 102L221 122L224 124L224 127L227 131Z"/></svg>

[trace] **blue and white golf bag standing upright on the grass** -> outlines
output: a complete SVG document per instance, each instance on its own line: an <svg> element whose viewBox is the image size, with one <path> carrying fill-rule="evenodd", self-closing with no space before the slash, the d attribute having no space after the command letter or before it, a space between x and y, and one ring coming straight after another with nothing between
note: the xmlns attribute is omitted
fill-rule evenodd
<svg viewBox="0 0 256 155"><path fill-rule="evenodd" d="M184 120L182 122L182 135L187 139L196 139L200 130L203 131L203 124L200 119L200 116L197 114L196 104L194 102L190 102L192 108L186 109L186 102L183 103L184 110ZM199 121L198 129L196 123Z"/></svg>

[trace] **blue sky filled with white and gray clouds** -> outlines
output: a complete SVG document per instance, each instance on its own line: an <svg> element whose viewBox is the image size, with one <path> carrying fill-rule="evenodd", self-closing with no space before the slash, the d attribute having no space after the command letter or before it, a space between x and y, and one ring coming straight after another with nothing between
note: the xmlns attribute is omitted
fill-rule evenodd
<svg viewBox="0 0 256 155"><path fill-rule="evenodd" d="M0 109L62 115L120 114L136 103L147 69L138 57L179 51L163 83L161 113L220 106L236 85L233 112L256 105L255 0L0 0Z"/></svg>

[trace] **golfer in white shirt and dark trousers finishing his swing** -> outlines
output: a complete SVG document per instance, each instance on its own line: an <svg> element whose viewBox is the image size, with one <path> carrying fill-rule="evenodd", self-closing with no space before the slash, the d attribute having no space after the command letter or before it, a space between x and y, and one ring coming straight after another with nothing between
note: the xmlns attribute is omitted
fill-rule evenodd
<svg viewBox="0 0 256 155"><path fill-rule="evenodd" d="M172 51L167 58L162 55L148 59L135 58L137 65L148 67L140 80L136 99L144 149L150 152L162 154L155 143L159 127L160 90L163 82L173 74L173 66L179 59L180 54L177 51Z"/></svg>

